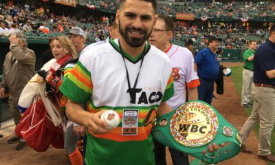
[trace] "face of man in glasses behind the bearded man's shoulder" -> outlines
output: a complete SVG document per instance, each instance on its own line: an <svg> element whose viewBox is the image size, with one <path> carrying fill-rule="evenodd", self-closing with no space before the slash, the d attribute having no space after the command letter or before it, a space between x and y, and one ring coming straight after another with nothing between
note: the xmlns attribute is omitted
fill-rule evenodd
<svg viewBox="0 0 275 165"><path fill-rule="evenodd" d="M170 43L170 37L168 36L164 20L157 19L153 32L149 38L149 43L157 47L159 50L164 50L165 45Z"/></svg>

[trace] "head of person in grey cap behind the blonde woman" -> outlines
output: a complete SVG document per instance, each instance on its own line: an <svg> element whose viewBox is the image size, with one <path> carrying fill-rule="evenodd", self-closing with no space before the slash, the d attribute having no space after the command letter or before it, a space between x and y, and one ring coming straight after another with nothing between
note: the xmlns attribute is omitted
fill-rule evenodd
<svg viewBox="0 0 275 165"><path fill-rule="evenodd" d="M69 39L71 39L74 48L76 49L77 58L80 57L80 53L84 47L86 47L86 35L84 30L79 27L74 27L69 31Z"/></svg>

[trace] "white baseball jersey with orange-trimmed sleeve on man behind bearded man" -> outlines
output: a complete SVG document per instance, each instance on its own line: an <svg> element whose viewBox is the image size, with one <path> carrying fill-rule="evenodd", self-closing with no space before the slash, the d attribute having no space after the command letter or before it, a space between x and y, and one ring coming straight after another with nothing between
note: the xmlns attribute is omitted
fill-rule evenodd
<svg viewBox="0 0 275 165"><path fill-rule="evenodd" d="M166 103L175 109L186 102L186 85L188 88L199 86L199 77L194 70L194 58L186 47L171 45L165 51L172 63L172 76L175 94Z"/></svg>

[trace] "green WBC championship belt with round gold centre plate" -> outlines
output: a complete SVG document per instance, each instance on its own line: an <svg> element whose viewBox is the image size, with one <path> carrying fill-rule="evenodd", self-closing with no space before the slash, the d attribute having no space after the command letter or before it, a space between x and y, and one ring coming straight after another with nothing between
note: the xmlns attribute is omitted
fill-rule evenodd
<svg viewBox="0 0 275 165"><path fill-rule="evenodd" d="M241 150L239 132L206 102L195 100L159 116L153 137L177 151L197 157L191 164L217 164L230 159ZM210 153L208 144L225 146ZM202 151L206 150L206 155ZM199 160L198 160L199 159Z"/></svg>

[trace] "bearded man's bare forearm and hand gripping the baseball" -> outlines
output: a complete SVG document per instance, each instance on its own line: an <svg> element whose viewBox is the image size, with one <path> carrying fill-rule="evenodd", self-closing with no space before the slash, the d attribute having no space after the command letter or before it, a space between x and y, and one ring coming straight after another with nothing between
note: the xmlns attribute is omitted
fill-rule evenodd
<svg viewBox="0 0 275 165"><path fill-rule="evenodd" d="M104 111L97 113L89 113L83 109L81 104L67 100L66 115L72 122L87 126L94 134L108 133L110 130L106 129L108 124L103 120L100 120L100 116Z"/></svg>

